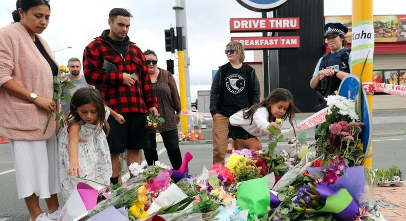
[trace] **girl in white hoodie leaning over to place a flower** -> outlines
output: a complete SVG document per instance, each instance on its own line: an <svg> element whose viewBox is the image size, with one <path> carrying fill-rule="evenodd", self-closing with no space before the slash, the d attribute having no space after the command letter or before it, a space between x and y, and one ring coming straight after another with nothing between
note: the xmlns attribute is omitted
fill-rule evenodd
<svg viewBox="0 0 406 221"><path fill-rule="evenodd" d="M278 118L282 120L289 118L289 123L293 127L296 110L293 96L289 90L274 89L260 103L256 103L230 117L228 137L237 142L239 149L262 150L262 144L258 138L269 135L270 126L276 130L280 129L275 122Z"/></svg>

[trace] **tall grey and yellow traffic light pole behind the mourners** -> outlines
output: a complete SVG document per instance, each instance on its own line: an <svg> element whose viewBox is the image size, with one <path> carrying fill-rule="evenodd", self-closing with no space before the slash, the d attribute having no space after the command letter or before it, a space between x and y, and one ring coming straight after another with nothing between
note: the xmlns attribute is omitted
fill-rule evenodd
<svg viewBox="0 0 406 221"><path fill-rule="evenodd" d="M190 75L189 75L189 65L190 65L190 59L189 59L189 53L188 53L188 30L187 30L187 23L186 23L186 3L185 0L175 0L175 6L172 7L172 9L175 10L175 15L176 15L176 27L177 28L181 28L182 31L182 35L184 36L177 36L177 38L181 38L181 42L183 43L183 47L182 47L182 53L183 53L183 58L181 58L178 54L178 60L179 60L179 65L183 65L184 67L184 83L185 83L185 87L186 87L186 93L184 93L184 97L182 98L182 88L180 87L181 84L181 76L180 76L180 72L179 72L179 89L180 89L180 101L182 103L182 99L185 99L186 105L183 106L182 105L182 109L186 110L192 110L192 106L191 106L191 96L190 96ZM178 50L179 53L179 50ZM180 61L180 60L183 61ZM180 67L179 67L180 70ZM183 120L184 119L184 120ZM183 128L183 123L181 123L182 125L182 133L186 133L187 132L187 125L188 125L188 117L186 115L182 115L181 116L181 121L185 121L185 125L186 127ZM190 117L189 117L189 121ZM192 125L193 126L193 125Z"/></svg>

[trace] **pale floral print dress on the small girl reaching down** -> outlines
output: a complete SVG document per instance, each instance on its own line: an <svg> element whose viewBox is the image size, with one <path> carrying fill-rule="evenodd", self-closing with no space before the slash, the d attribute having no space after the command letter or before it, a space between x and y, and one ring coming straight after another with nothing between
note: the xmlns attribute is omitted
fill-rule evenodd
<svg viewBox="0 0 406 221"><path fill-rule="evenodd" d="M69 137L66 126L58 133L58 161L59 176L62 186L62 199L66 201L78 182L85 182L96 188L95 182L85 181L75 176L69 176L66 172L69 167L68 154ZM97 125L86 123L81 125L78 143L78 160L80 177L96 182L110 184L112 176L112 161L104 131L99 131Z"/></svg>

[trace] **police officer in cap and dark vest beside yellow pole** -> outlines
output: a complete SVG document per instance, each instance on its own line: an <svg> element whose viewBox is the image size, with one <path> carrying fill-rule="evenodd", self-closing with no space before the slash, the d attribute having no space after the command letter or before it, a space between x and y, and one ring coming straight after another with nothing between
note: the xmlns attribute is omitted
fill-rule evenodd
<svg viewBox="0 0 406 221"><path fill-rule="evenodd" d="M334 94L341 80L350 72L351 64L350 49L344 47L347 44L344 35L348 32L348 28L341 23L327 23L323 30L323 39L326 39L331 51L320 58L310 80L310 87L316 90L319 97L316 111L326 106L323 98Z"/></svg>

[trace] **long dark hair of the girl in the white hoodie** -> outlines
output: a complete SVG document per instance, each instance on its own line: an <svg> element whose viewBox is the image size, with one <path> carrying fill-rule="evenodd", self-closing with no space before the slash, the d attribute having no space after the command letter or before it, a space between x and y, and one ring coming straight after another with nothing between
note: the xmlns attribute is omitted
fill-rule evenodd
<svg viewBox="0 0 406 221"><path fill-rule="evenodd" d="M296 106L294 106L292 93L290 93L290 91L285 88L276 88L276 89L272 90L267 98L263 99L260 103L256 103L256 104L252 105L250 108L248 108L247 110L243 111L243 118L251 119L251 124L252 124L252 117L254 116L256 109L258 109L260 107L266 107L269 112L268 121L272 122L275 119L272 119L273 116L271 114L271 109L269 106L271 104L278 103L279 101L289 101L289 107L286 110L286 113L282 117L282 119L286 120L286 118L289 118L289 123L290 123L290 125L292 125L294 136L296 137L296 131L294 130L294 126L293 126L293 119L294 119L294 112L298 111L298 109L296 108Z"/></svg>

